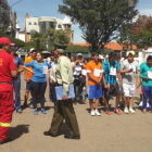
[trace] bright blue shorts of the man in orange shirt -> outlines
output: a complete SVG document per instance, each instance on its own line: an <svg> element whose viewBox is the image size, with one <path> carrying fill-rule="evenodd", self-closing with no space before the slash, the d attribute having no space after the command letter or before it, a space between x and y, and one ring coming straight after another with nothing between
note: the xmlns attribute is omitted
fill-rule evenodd
<svg viewBox="0 0 152 152"><path fill-rule="evenodd" d="M102 98L102 86L89 86L89 99Z"/></svg>

